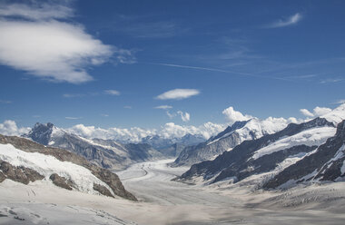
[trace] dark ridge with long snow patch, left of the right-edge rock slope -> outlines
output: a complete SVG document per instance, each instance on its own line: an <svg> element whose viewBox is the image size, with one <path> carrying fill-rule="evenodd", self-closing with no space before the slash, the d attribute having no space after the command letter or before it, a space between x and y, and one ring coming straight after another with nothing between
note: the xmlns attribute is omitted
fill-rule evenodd
<svg viewBox="0 0 345 225"><path fill-rule="evenodd" d="M277 173L314 151L335 132L333 123L323 118L301 124L291 123L281 132L242 142L214 161L194 164L181 178L192 180L194 176L202 176L203 180L210 182L237 182L259 173Z"/></svg>

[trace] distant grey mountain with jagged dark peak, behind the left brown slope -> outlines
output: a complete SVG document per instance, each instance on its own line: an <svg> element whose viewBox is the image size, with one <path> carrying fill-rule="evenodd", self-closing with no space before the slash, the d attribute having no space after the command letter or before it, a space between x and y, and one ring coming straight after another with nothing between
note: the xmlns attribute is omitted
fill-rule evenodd
<svg viewBox="0 0 345 225"><path fill-rule="evenodd" d="M162 157L160 152L148 144L120 144L102 139L88 140L57 128L50 122L46 124L37 122L25 137L46 146L58 147L82 155L88 161L107 169L120 170L133 162Z"/></svg>

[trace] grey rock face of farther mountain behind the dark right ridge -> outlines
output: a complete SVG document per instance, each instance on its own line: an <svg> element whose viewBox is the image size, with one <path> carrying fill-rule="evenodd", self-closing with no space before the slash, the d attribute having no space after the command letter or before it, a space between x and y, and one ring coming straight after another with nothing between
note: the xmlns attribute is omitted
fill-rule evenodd
<svg viewBox="0 0 345 225"><path fill-rule="evenodd" d="M232 149L241 142L239 134L234 131L241 129L247 122L235 122L207 142L185 147L172 166L192 165L201 161L212 160L213 157L222 154L222 152ZM223 137L226 134L230 135Z"/></svg>

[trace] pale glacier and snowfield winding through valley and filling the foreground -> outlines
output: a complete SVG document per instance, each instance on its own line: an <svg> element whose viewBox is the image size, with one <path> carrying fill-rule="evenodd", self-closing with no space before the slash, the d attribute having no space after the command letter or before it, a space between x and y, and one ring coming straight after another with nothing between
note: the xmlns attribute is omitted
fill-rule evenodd
<svg viewBox="0 0 345 225"><path fill-rule="evenodd" d="M252 192L245 182L204 187L171 181L188 169L170 168L171 161L136 163L118 172L139 202L65 191L45 180L5 180L0 224L344 224L341 182L274 192Z"/></svg>

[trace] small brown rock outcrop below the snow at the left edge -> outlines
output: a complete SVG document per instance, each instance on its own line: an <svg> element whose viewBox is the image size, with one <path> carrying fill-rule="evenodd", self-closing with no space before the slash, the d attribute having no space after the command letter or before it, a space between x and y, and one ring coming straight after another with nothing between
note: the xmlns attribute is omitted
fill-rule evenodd
<svg viewBox="0 0 345 225"><path fill-rule="evenodd" d="M16 167L6 161L0 161L0 171L2 171L0 181L10 179L12 181L28 184L30 181L34 182L44 179L44 176L37 171L25 168L23 166Z"/></svg>

